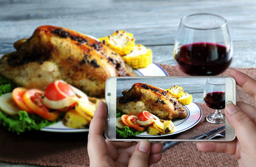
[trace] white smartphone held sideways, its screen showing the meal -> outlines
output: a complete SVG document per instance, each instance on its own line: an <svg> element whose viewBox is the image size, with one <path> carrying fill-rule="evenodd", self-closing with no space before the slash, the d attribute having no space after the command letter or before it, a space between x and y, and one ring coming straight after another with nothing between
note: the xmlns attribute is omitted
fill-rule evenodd
<svg viewBox="0 0 256 167"><path fill-rule="evenodd" d="M232 141L224 108L231 76L136 76L106 80L105 136L119 141Z"/></svg>

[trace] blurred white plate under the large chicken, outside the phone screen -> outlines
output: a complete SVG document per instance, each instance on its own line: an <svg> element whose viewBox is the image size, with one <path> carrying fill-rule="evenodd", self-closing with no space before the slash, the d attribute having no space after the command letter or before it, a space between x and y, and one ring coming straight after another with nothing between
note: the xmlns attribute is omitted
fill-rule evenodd
<svg viewBox="0 0 256 167"><path fill-rule="evenodd" d="M168 76L166 71L157 65L155 62L150 64L147 68L134 69L134 72L138 76ZM59 132L59 133L73 133L73 132L86 132L89 129L75 129L64 126L63 122L60 120L56 124L51 126L47 126L41 129L41 131L49 131L49 132Z"/></svg>

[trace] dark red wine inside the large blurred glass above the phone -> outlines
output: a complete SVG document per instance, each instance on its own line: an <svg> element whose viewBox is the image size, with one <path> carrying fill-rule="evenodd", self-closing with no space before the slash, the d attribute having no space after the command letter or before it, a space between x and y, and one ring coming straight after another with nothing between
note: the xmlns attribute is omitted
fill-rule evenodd
<svg viewBox="0 0 256 167"><path fill-rule="evenodd" d="M189 75L218 75L232 61L230 50L216 43L182 45L174 57L177 66Z"/></svg>

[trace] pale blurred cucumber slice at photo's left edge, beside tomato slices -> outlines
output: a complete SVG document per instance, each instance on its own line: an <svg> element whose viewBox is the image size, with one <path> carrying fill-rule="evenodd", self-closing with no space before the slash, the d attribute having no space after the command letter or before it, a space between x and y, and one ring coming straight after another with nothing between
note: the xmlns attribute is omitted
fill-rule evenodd
<svg viewBox="0 0 256 167"><path fill-rule="evenodd" d="M17 115L19 113L20 108L13 101L12 92L0 96L0 110L8 115Z"/></svg>

